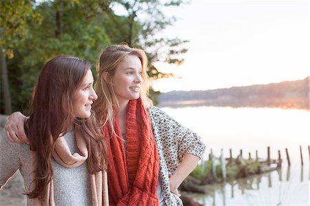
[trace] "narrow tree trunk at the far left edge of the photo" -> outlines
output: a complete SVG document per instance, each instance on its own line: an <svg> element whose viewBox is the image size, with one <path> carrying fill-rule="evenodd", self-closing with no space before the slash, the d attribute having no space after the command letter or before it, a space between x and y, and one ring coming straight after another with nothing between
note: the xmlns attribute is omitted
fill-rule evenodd
<svg viewBox="0 0 310 206"><path fill-rule="evenodd" d="M8 84L8 68L6 66L6 54L4 54L2 48L0 48L0 61L1 61L1 81L3 90L3 104L4 114L12 113L10 87Z"/></svg>

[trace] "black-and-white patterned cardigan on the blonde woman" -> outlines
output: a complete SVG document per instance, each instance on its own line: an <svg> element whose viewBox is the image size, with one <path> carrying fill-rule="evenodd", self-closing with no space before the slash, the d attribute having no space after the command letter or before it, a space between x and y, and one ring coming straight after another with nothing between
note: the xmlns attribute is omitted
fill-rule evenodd
<svg viewBox="0 0 310 206"><path fill-rule="evenodd" d="M174 174L186 153L202 158L205 144L194 132L180 125L158 107L151 107L149 116L158 148L163 198L167 206L183 205L182 200L170 192L169 176Z"/></svg>

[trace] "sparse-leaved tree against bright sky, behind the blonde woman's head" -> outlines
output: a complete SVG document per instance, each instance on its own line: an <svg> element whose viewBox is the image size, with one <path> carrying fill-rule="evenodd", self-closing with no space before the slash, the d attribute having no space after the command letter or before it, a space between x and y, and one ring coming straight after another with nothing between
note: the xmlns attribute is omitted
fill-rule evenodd
<svg viewBox="0 0 310 206"><path fill-rule="evenodd" d="M180 65L184 61L180 57L181 54L187 52L187 48L184 48L187 40L158 37L156 34L176 21L174 17L166 17L163 14L163 8L180 6L184 2L180 0L117 0L114 3L123 6L127 12L122 18L116 15L111 16L112 22L117 25L118 34L122 34L118 42L126 42L130 46L143 48L147 52L150 62L148 74L152 79L171 76L172 74L159 72L154 62L162 61Z"/></svg>

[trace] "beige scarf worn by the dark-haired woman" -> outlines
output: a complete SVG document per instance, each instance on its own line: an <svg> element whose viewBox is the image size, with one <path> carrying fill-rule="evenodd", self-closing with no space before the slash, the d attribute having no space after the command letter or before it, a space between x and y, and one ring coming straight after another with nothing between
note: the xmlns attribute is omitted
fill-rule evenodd
<svg viewBox="0 0 310 206"><path fill-rule="evenodd" d="M75 130L75 138L76 145L79 148L79 153L71 154L70 149L68 147L65 138L61 137L56 140L55 150L53 152L53 158L57 163L62 165L63 167L78 167L85 163L88 157L87 145L81 132L79 130ZM37 169L37 153L31 152L31 161L32 161L32 171ZM32 181L34 180L35 172L32 172ZM109 196L107 192L107 172L101 171L96 174L90 174L90 185L92 189L92 205L93 206L107 206L109 205ZM32 189L34 184L32 184ZM46 206L54 206L54 186L53 181L48 184L47 192L43 198L43 200L39 200L39 198L34 198L34 205L46 205Z"/></svg>

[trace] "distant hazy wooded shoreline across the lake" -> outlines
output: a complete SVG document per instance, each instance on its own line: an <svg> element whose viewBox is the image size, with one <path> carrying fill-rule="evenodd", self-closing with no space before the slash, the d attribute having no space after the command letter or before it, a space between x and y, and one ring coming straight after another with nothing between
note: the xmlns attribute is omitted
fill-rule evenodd
<svg viewBox="0 0 310 206"><path fill-rule="evenodd" d="M205 91L161 94L165 105L213 105L230 107L285 107L309 110L309 76L297 81L250 85Z"/></svg>

